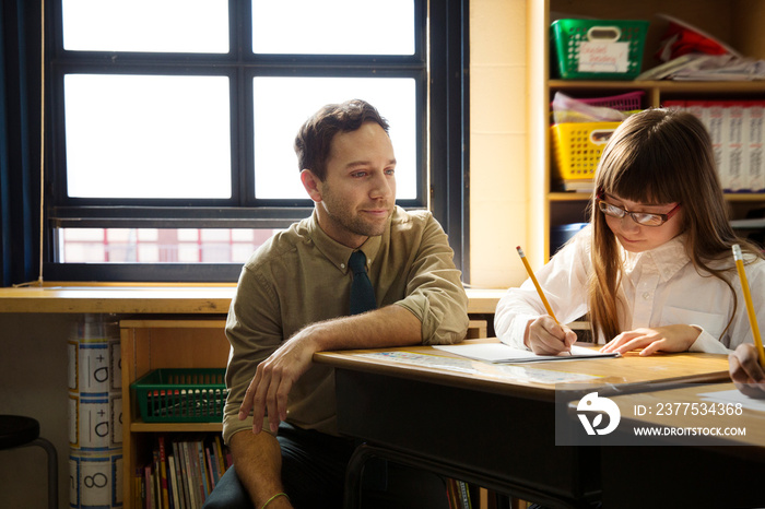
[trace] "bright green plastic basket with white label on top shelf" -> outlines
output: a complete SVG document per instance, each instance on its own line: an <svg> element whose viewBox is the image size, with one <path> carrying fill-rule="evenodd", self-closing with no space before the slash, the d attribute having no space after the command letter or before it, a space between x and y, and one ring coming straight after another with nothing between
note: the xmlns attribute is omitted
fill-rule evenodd
<svg viewBox="0 0 765 509"><path fill-rule="evenodd" d="M648 22L556 20L550 26L564 80L634 80L640 73Z"/></svg>

